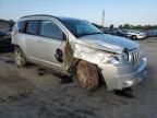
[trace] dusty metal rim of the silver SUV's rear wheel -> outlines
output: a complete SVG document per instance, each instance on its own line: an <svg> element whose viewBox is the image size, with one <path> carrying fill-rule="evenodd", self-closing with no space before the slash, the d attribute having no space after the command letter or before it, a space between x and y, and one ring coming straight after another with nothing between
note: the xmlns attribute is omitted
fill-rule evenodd
<svg viewBox="0 0 157 118"><path fill-rule="evenodd" d="M22 55L22 52L16 50L14 52L14 57L15 57L15 62L17 63L17 66L22 66L22 63L23 63L23 55Z"/></svg>

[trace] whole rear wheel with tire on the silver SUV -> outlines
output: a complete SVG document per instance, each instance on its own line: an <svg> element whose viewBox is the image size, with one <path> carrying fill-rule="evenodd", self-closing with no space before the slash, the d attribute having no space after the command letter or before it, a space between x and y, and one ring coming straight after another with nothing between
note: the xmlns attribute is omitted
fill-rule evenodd
<svg viewBox="0 0 157 118"><path fill-rule="evenodd" d="M14 48L13 55L14 55L14 61L17 67L26 66L26 58L20 47Z"/></svg>

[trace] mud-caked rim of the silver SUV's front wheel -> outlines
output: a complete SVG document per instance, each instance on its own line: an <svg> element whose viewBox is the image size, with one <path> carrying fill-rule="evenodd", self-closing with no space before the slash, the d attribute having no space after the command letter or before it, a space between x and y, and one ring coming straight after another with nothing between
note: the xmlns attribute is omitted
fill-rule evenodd
<svg viewBox="0 0 157 118"><path fill-rule="evenodd" d="M84 62L81 62L77 66L76 78L77 78L80 85L84 88L86 88L88 85L88 76L89 76L89 72L88 72L87 64Z"/></svg>

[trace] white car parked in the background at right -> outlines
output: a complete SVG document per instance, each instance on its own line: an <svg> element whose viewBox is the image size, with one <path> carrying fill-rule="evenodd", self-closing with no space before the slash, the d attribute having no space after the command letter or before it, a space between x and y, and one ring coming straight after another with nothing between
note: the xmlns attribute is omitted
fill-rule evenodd
<svg viewBox="0 0 157 118"><path fill-rule="evenodd" d="M126 37L134 39L134 40L146 38L146 34L140 31L131 30L131 31L128 31L125 34L126 34Z"/></svg>

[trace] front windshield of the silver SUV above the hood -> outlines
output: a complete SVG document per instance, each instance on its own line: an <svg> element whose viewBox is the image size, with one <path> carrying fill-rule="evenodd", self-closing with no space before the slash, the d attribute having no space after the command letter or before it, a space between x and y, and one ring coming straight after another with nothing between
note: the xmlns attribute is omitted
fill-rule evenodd
<svg viewBox="0 0 157 118"><path fill-rule="evenodd" d="M90 23L82 20L61 20L67 28L75 36L82 37L86 35L101 34L102 32L92 25Z"/></svg>

